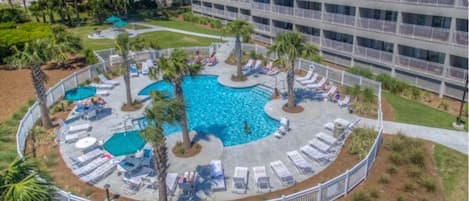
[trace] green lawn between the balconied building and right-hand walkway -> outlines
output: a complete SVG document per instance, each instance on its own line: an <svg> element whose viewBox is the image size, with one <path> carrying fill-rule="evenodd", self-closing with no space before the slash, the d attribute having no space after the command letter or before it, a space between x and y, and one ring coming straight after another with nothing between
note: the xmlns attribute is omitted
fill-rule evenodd
<svg viewBox="0 0 469 201"><path fill-rule="evenodd" d="M397 122L454 129L452 126L452 123L456 121L454 115L388 92L383 92L383 97L394 109L394 120ZM467 130L467 123L465 127Z"/></svg>

